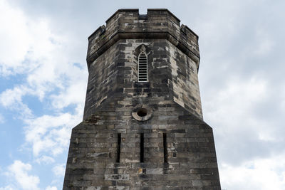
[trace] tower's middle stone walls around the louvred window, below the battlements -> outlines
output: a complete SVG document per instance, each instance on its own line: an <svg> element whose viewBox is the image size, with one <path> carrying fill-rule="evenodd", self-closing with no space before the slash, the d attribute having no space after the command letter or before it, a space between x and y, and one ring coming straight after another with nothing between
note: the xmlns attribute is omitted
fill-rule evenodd
<svg viewBox="0 0 285 190"><path fill-rule="evenodd" d="M141 46L148 50L149 83L137 82ZM202 118L197 74L195 61L166 39L121 39L90 64L84 119L115 95L166 96Z"/></svg>

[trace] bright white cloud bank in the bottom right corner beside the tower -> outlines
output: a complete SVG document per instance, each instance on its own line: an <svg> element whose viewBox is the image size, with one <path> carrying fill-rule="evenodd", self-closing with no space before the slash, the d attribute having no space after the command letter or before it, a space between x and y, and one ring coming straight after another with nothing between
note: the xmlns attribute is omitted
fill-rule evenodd
<svg viewBox="0 0 285 190"><path fill-rule="evenodd" d="M254 159L239 166L222 164L219 167L223 189L231 190L284 190L284 156Z"/></svg>

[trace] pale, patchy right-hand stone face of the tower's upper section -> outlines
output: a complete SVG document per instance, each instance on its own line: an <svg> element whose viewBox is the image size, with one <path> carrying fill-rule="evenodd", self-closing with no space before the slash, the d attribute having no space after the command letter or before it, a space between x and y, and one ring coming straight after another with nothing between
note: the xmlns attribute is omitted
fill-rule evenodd
<svg viewBox="0 0 285 190"><path fill-rule="evenodd" d="M171 70L168 85L172 100L197 117L202 116L198 72L195 61L167 41L167 66Z"/></svg>

